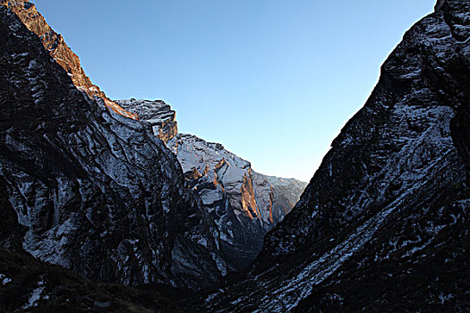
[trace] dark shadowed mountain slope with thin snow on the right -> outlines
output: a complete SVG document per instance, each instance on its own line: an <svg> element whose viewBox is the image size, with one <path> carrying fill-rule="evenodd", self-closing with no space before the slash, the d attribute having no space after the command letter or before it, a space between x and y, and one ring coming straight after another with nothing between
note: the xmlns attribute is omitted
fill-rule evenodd
<svg viewBox="0 0 470 313"><path fill-rule="evenodd" d="M466 0L406 32L260 257L202 311L470 308L469 40Z"/></svg>

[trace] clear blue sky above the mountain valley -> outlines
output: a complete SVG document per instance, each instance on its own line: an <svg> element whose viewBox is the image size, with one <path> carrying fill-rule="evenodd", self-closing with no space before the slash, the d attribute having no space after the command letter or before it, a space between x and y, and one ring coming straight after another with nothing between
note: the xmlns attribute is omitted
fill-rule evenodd
<svg viewBox="0 0 470 313"><path fill-rule="evenodd" d="M309 181L434 0L32 0L108 97L164 99L180 132Z"/></svg>

